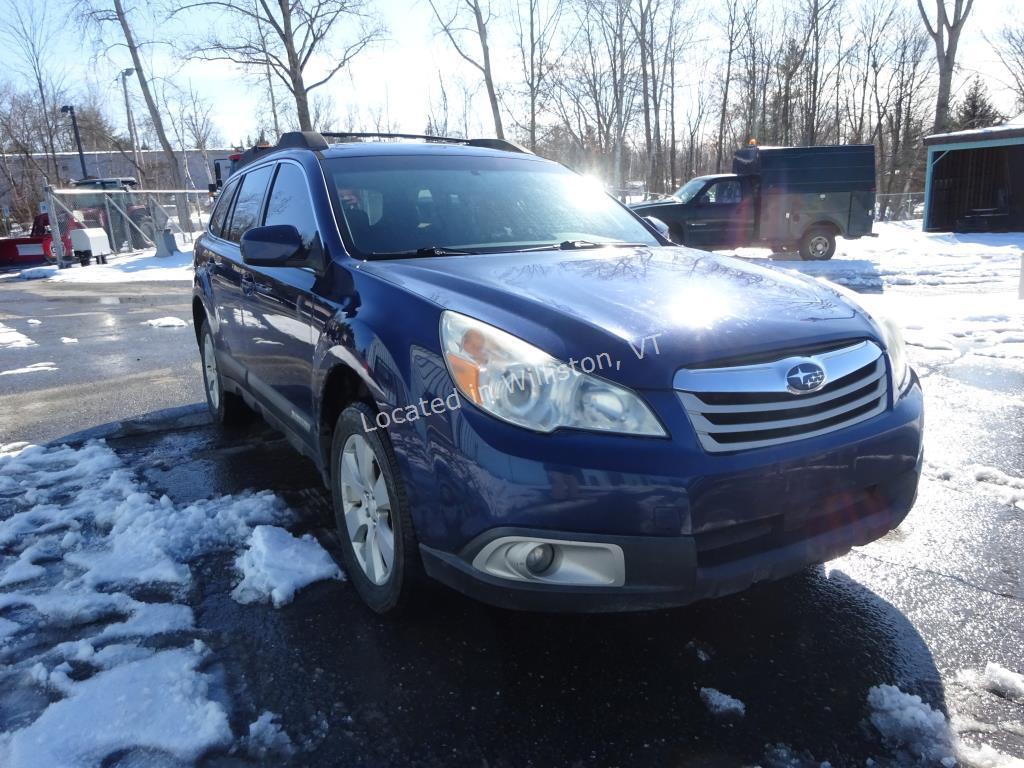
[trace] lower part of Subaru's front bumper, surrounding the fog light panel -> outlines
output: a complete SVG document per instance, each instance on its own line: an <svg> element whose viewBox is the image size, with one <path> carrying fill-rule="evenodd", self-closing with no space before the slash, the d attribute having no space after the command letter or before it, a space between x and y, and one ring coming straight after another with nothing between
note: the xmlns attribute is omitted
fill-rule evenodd
<svg viewBox="0 0 1024 768"><path fill-rule="evenodd" d="M791 575L874 541L906 517L918 492L918 466L891 481L826 500L819 514L791 525L780 518L730 526L713 536L599 536L499 527L459 553L421 545L427 572L464 594L503 608L548 611L626 611L686 605L739 592L756 582ZM488 543L509 536L601 542L623 549L621 587L566 587L510 581L473 567Z"/></svg>

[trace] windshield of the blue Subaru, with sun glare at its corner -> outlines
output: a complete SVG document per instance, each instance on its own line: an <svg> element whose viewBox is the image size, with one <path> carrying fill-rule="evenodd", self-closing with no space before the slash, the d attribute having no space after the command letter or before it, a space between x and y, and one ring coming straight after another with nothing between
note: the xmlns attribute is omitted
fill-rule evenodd
<svg viewBox="0 0 1024 768"><path fill-rule="evenodd" d="M358 256L658 245L603 189L554 163L406 155L331 158L325 168Z"/></svg>

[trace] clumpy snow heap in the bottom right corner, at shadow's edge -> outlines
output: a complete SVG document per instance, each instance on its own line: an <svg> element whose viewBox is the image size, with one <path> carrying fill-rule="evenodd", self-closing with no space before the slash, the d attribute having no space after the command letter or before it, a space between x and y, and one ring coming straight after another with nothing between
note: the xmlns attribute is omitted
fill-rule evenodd
<svg viewBox="0 0 1024 768"><path fill-rule="evenodd" d="M964 742L941 712L895 685L873 686L867 692L867 707L868 721L899 765L1024 768L1024 760L988 744L974 748ZM958 725L962 731L977 730L965 721Z"/></svg>

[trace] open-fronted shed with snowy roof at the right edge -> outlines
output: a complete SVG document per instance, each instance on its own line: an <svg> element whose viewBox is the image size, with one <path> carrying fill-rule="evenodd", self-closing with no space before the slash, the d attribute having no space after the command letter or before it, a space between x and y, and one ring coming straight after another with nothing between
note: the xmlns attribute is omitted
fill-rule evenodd
<svg viewBox="0 0 1024 768"><path fill-rule="evenodd" d="M925 231L1024 231L1024 115L925 146Z"/></svg>

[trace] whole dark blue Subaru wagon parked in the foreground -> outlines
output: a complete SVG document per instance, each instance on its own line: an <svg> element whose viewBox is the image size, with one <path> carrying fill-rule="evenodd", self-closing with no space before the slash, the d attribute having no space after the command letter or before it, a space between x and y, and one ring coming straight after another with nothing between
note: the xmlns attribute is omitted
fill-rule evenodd
<svg viewBox="0 0 1024 768"><path fill-rule="evenodd" d="M373 609L430 578L513 608L682 605L906 516L921 387L848 294L675 247L508 142L328 137L226 182L193 307L211 412L315 462Z"/></svg>

